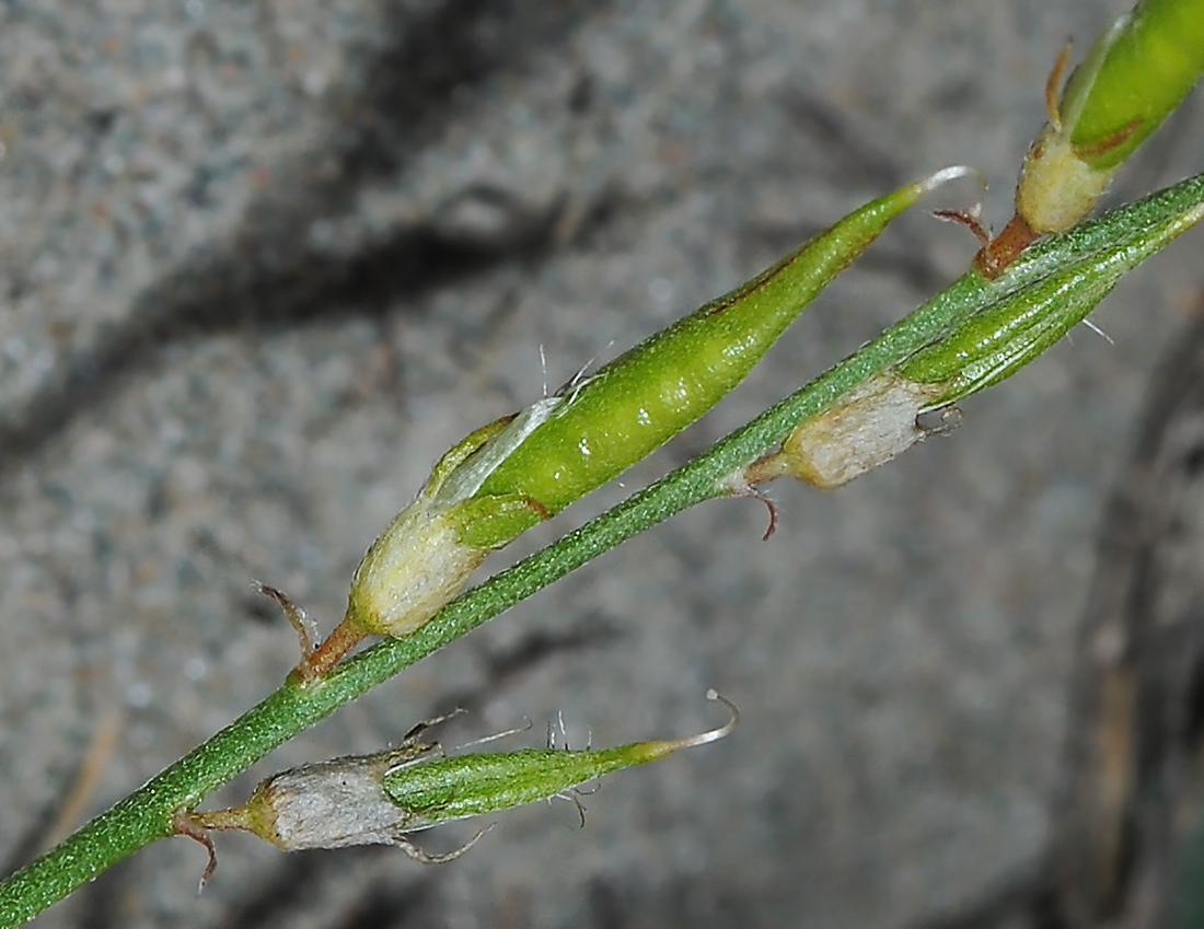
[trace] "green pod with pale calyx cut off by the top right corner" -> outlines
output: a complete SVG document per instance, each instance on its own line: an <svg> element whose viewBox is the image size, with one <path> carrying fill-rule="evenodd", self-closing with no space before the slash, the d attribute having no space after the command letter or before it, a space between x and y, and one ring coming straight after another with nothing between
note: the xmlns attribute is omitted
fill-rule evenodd
<svg viewBox="0 0 1204 929"><path fill-rule="evenodd" d="M1025 159L1016 213L1038 233L1091 212L1116 168L1204 72L1204 0L1141 0L1096 41L1067 82L1050 75L1050 120Z"/></svg>

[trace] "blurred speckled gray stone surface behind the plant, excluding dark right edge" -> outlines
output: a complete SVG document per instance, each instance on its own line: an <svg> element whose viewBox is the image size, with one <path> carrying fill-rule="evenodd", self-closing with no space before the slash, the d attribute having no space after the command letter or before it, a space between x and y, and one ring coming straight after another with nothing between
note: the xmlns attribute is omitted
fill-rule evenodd
<svg viewBox="0 0 1204 929"><path fill-rule="evenodd" d="M1010 215L1067 36L1039 0L46 0L0 5L0 862L98 812L296 659L476 426L949 164ZM1204 165L1200 99L1114 199ZM931 206L968 206L973 190ZM952 437L831 493L704 505L344 709L282 767L563 714L726 741L496 817L471 853L159 842L45 927L1028 925L1105 502L1199 233ZM914 211L639 485L958 274ZM609 487L486 561L620 499ZM106 744L108 750L106 751ZM89 746L93 762L89 763ZM423 836L445 850L471 834ZM1011 909L1009 909L1011 907ZM1027 912L1027 911L1026 911Z"/></svg>

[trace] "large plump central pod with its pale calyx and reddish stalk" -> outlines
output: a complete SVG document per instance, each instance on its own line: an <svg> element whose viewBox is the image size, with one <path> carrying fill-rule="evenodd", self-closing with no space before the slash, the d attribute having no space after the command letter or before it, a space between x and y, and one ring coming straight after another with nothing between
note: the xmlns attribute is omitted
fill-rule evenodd
<svg viewBox="0 0 1204 929"><path fill-rule="evenodd" d="M368 634L407 635L480 564L541 520L616 477L710 409L886 225L955 166L855 209L793 254L628 349L591 375L471 433L380 533L347 613L299 665L320 676Z"/></svg>

